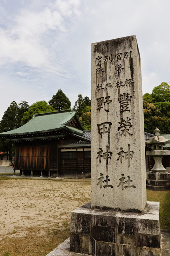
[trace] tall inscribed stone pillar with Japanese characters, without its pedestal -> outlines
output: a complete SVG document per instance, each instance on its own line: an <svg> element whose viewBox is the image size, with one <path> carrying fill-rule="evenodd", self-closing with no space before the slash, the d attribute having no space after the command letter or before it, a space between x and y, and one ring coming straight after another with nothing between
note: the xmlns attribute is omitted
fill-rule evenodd
<svg viewBox="0 0 170 256"><path fill-rule="evenodd" d="M144 117L136 36L92 44L91 208L142 212Z"/></svg>

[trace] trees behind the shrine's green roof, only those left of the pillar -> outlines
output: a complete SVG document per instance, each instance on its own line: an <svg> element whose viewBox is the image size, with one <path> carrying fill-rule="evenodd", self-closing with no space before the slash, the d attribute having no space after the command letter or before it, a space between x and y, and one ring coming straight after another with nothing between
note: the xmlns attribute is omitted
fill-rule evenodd
<svg viewBox="0 0 170 256"><path fill-rule="evenodd" d="M2 117L0 132L13 130L26 124L32 119L34 114L67 110L70 107L71 102L61 89L58 90L56 95L53 95L48 103L46 101L38 101L29 106L26 101L21 101L18 104L13 101ZM83 98L79 94L73 109L77 112L83 127L85 129L91 129L91 100L88 97ZM12 151L11 145L6 140L0 138L1 150L10 151L10 153Z"/></svg>

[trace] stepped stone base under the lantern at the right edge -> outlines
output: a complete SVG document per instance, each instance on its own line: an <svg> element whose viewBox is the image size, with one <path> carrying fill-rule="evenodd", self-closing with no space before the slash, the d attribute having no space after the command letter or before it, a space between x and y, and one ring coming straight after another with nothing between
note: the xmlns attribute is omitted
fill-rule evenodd
<svg viewBox="0 0 170 256"><path fill-rule="evenodd" d="M170 173L166 171L152 171L148 174L147 189L152 191L170 190Z"/></svg>

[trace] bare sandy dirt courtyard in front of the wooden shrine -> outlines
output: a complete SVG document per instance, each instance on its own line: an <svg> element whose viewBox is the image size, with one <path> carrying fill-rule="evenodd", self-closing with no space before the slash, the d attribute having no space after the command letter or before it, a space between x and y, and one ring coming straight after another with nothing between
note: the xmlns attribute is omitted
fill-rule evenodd
<svg viewBox="0 0 170 256"><path fill-rule="evenodd" d="M0 256L45 256L68 238L70 213L90 201L90 180L0 178Z"/></svg>

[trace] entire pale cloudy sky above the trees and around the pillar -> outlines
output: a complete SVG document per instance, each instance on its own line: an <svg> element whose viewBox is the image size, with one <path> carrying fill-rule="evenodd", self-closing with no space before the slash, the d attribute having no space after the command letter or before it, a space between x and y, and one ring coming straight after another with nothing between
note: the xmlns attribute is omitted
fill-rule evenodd
<svg viewBox="0 0 170 256"><path fill-rule="evenodd" d="M169 0L0 0L0 120L15 100L91 98L91 43L136 35L143 94L170 84Z"/></svg>

